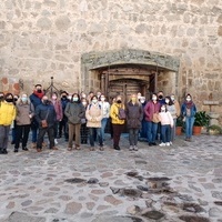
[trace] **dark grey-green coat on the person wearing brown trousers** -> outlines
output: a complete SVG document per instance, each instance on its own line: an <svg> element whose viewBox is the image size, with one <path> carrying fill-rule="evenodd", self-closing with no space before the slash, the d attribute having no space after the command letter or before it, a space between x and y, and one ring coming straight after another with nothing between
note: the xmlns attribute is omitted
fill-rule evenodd
<svg viewBox="0 0 222 222"><path fill-rule="evenodd" d="M64 109L64 114L71 124L81 124L81 119L84 118L84 113L83 104L78 102L69 102Z"/></svg>

